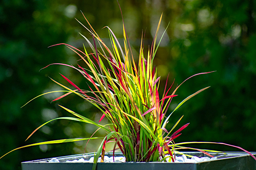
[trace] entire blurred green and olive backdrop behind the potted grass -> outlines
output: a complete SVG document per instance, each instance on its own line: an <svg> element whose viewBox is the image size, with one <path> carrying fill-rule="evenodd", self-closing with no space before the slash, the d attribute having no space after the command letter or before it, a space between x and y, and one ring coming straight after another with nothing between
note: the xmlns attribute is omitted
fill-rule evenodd
<svg viewBox="0 0 256 170"><path fill-rule="evenodd" d="M145 51L153 40L163 12L160 34L168 26L154 60L163 91L167 75L174 86L200 72L216 71L189 79L180 86L169 113L179 102L201 88L179 108L169 128L180 116L180 126L189 127L175 142L209 141L238 145L256 151L256 1L254 0L119 0L128 37L134 49L145 32ZM47 140L90 137L96 127L71 121L55 121L41 128L28 141L26 137L39 125L60 116L70 116L58 107L99 121L100 113L75 95L51 102L61 94L41 96L61 90L49 77L68 85L64 74L81 88L87 84L75 70L51 63L76 65L80 61L64 45L82 47L79 35L90 34L75 20L87 26L87 17L100 37L108 38L109 26L122 39L122 17L116 0L1 0L0 1L0 156L26 144ZM122 41L121 41L122 42ZM106 123L106 120L104 120ZM95 136L104 136L99 132ZM20 170L21 161L94 152L100 140L41 145L20 149L0 159L0 169ZM222 145L190 145L223 151L239 151ZM111 148L108 148L111 150Z"/></svg>

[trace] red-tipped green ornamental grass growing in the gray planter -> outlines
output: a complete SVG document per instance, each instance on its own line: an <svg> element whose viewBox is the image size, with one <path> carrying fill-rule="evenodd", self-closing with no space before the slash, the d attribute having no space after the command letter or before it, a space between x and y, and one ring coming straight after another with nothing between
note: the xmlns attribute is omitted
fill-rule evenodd
<svg viewBox="0 0 256 170"><path fill-rule="evenodd" d="M99 122L93 122L92 120L87 119L86 117L60 105L61 108L73 114L75 117L59 117L52 119L35 129L27 139L29 139L30 136L32 136L32 134L34 134L39 128L57 119L68 119L96 125L99 127L99 129L101 128L105 130L107 135L102 138L102 143L100 144L99 149L97 150L97 153L94 157L93 169L96 169L96 163L99 157L102 158L101 161L103 162L105 147L106 143L108 142L114 142L113 155L116 149L120 149L125 156L126 161L140 162L167 161L167 158L170 158L169 161L174 162L174 155L176 153L180 153L181 149L198 150L211 156L209 153L212 152L212 150L189 148L184 147L184 145L191 143L224 144L216 142L175 143L174 139L180 136L180 132L189 125L189 123L182 126L179 125L179 122L183 116L180 116L180 119L176 120L177 122L172 127L172 129L166 129L166 125L169 122L170 117L178 108L180 108L181 105L183 105L184 102L209 87L203 88L188 96L186 99L180 102L179 105L177 105L172 113L167 112L172 99L177 96L177 89L180 88L180 85L182 85L183 82L178 85L174 91L170 92L170 89L174 83L172 83L170 86L167 85L167 77L163 94L159 94L160 77L157 77L157 68L153 66L153 60L156 55L157 48L160 44L160 41L157 43L157 36L162 15L160 17L153 42L146 52L143 46L142 34L139 57L137 61L134 60L124 23L122 28L124 36L123 42L118 41L111 28L108 26L104 27L108 29L109 37L111 40L111 46L108 47L105 42L103 42L103 40L98 36L96 31L94 31L86 17L84 18L87 21L89 28L84 26L81 22L78 22L85 29L87 29L87 31L89 31L93 38L93 42L90 42L87 37L84 37L81 34L81 36L84 37L86 43L90 45L91 51L87 51L85 47L84 50L81 51L78 48L68 44L56 44L66 45L67 48L70 48L70 50L76 53L79 59L84 62L83 65L77 65L77 67L61 63L54 63L50 65L64 65L76 69L76 71L90 83L87 85L87 87L78 87L72 82L70 78L61 74L61 77L63 77L70 85L73 86L73 89L68 88L67 86L60 84L59 82L56 82L54 79L52 79L52 81L60 85L62 88L64 88L64 90L51 91L45 94L65 92L64 95L59 96L53 101L59 100L65 96L68 96L69 94L76 94L77 96L81 97L81 99L90 102L100 111L102 111L102 117ZM160 40L162 37L160 37ZM96 44L98 44L98 47ZM191 77L208 73L211 72L199 73ZM45 94L41 94L39 96ZM110 124L101 125L100 122L102 119L108 119ZM90 138L60 139L29 144L23 147L93 139L99 139L99 137L91 136ZM233 146L229 144L226 145ZM14 150L23 147L19 147ZM237 148L244 150L241 147ZM246 150L244 151L249 153ZM251 153L249 154L254 159L256 159Z"/></svg>

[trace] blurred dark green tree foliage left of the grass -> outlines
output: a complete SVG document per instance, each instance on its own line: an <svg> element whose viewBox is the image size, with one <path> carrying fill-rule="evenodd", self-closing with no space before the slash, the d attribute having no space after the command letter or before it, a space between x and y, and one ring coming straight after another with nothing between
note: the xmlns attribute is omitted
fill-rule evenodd
<svg viewBox="0 0 256 170"><path fill-rule="evenodd" d="M50 105L47 99L39 98L29 107L20 107L49 88L48 75L57 77L58 74L56 67L44 72L39 70L49 63L67 59L64 46L47 48L67 41L68 37L67 17L53 10L53 5L46 0L3 0L0 3L1 155L10 148L49 140L49 135L39 133L40 136L24 142L33 129L45 122L43 109L55 109L55 103ZM58 131L54 138L64 138L63 132ZM52 148L50 155L57 150L62 153L60 148ZM39 147L18 150L0 160L0 169L19 169L21 161L42 158L41 154Z"/></svg>

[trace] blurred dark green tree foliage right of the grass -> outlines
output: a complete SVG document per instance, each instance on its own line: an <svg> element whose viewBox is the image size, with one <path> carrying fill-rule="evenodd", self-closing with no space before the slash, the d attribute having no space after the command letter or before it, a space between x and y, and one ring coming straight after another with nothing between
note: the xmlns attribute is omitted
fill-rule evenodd
<svg viewBox="0 0 256 170"><path fill-rule="evenodd" d="M177 92L184 98L202 85L212 86L180 109L191 122L187 134L192 135L178 140L225 142L256 150L255 8L252 0L184 1L180 23L194 29L170 45L180 54L170 63L176 82L199 72L217 72L191 79Z"/></svg>

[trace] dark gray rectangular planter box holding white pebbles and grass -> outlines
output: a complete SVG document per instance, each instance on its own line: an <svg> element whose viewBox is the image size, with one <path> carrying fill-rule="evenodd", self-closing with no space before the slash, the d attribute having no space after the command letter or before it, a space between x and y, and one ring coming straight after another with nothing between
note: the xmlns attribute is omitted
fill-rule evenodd
<svg viewBox="0 0 256 170"><path fill-rule="evenodd" d="M184 152L198 157L205 157L201 152ZM106 153L106 156L113 154ZM256 161L247 153L227 152L211 153L217 160L202 163L162 163L162 162L125 162L125 163L98 163L97 170L256 170ZM253 153L256 155L256 153ZM51 159L26 161L21 163L22 170L92 170L93 163L66 163L67 160L90 159L93 153L57 157L59 163L49 163ZM122 156L116 153L115 156ZM177 155L179 156L179 155Z"/></svg>

